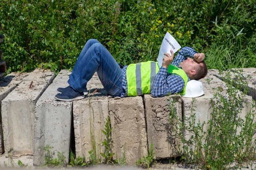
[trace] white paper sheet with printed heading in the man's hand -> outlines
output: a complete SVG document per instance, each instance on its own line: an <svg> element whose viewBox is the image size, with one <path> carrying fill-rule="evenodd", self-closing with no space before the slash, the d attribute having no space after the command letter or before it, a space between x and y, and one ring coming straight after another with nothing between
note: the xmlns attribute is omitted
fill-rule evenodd
<svg viewBox="0 0 256 170"><path fill-rule="evenodd" d="M169 53L170 55L172 55L171 50L173 51L173 53L175 53L180 48L181 48L180 44L175 40L174 37L172 37L172 35L169 32L167 32L166 35L163 37L163 42L161 44L158 58L157 58L159 68L162 67L163 57L164 57L163 54Z"/></svg>

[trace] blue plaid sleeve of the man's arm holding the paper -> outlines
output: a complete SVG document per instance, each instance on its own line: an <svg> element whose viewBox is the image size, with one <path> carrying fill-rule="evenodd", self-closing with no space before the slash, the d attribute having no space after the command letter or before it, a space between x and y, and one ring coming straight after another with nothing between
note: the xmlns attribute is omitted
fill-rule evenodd
<svg viewBox="0 0 256 170"><path fill-rule="evenodd" d="M182 91L185 82L179 75L169 75L167 68L161 67L154 78L151 94L153 97L163 97L167 94L176 94Z"/></svg>

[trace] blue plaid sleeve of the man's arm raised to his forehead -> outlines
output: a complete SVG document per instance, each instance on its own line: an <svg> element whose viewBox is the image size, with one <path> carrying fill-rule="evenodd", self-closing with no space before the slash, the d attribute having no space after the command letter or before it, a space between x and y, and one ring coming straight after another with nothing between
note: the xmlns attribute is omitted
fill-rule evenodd
<svg viewBox="0 0 256 170"><path fill-rule="evenodd" d="M198 53L198 52L195 51L194 48L192 48L192 47L183 47L183 48L181 48L181 50L178 52L177 56L172 61L172 64L179 66L180 62L183 62L188 57L194 59L194 55L196 53Z"/></svg>

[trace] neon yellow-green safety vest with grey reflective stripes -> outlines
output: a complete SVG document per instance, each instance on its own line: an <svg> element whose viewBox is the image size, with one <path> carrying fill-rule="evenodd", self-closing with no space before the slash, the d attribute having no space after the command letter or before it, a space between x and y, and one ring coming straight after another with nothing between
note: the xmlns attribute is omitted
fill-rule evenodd
<svg viewBox="0 0 256 170"><path fill-rule="evenodd" d="M153 61L128 65L126 70L128 96L151 94L154 77L158 71L158 63ZM174 65L169 65L167 72L179 75L184 80L185 86L179 94L185 94L186 83L188 82L188 77L185 71Z"/></svg>

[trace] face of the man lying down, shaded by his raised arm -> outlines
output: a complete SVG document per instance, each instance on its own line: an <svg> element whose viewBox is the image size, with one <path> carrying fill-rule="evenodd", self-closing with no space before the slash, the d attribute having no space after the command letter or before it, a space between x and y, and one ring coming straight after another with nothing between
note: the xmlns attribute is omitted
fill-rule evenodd
<svg viewBox="0 0 256 170"><path fill-rule="evenodd" d="M182 67L182 69L185 71L186 74L194 75L196 73L195 68L197 68L201 64L203 64L203 63L199 63L199 62L195 61L195 59L192 59L192 58L187 58L183 62L180 62L179 66Z"/></svg>

